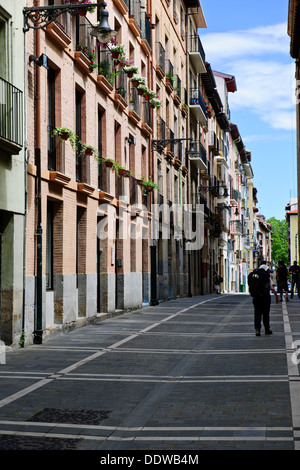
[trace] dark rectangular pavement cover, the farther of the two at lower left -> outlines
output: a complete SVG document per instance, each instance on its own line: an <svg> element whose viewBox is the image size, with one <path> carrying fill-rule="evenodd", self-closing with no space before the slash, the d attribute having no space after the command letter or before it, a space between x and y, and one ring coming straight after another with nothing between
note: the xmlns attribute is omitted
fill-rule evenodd
<svg viewBox="0 0 300 470"><path fill-rule="evenodd" d="M44 423L68 423L68 424L100 424L107 419L111 411L104 410L65 410L57 408L43 408L26 421Z"/></svg>

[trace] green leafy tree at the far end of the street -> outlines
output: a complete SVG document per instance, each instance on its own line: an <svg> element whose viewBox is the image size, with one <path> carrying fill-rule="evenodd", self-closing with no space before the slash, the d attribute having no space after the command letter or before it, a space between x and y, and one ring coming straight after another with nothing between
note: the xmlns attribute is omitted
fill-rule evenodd
<svg viewBox="0 0 300 470"><path fill-rule="evenodd" d="M275 217L270 217L267 222L272 226L272 260L276 265L278 265L278 261L283 261L288 266L288 223L286 220L278 220Z"/></svg>

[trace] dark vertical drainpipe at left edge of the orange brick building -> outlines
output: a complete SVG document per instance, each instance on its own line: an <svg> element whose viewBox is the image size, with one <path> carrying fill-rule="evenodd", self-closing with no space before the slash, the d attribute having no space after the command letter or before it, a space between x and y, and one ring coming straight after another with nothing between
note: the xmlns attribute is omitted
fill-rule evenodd
<svg viewBox="0 0 300 470"><path fill-rule="evenodd" d="M40 1L36 0L36 6L40 6ZM35 30L35 56L41 55L40 30ZM42 201L41 201L41 69L35 67L36 93L35 93L35 165L37 171L36 179L36 203L37 203L37 228L36 228L36 316L34 329L34 344L41 344L43 337L43 284L42 284Z"/></svg>

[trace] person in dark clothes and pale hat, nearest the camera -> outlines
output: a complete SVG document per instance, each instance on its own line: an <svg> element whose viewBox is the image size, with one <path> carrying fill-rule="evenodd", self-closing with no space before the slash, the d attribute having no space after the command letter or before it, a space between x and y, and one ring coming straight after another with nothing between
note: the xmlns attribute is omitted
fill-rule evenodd
<svg viewBox="0 0 300 470"><path fill-rule="evenodd" d="M270 308L271 308L271 294L272 291L278 303L278 295L274 289L273 281L270 276L269 266L264 261L260 264L258 269L255 269L249 274L248 284L250 294L253 297L254 305L254 328L256 336L260 336L261 321L265 328L265 334L271 335L270 329Z"/></svg>

